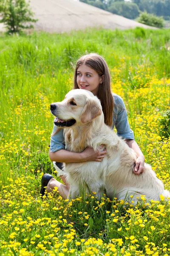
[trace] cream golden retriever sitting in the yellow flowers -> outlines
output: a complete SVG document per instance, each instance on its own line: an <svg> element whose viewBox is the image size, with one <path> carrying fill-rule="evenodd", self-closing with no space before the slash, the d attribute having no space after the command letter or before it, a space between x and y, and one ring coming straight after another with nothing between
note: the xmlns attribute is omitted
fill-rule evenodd
<svg viewBox="0 0 170 256"><path fill-rule="evenodd" d="M140 175L133 173L136 153L105 125L101 103L93 93L71 90L62 102L51 104L51 113L56 116L54 124L64 128L66 150L82 152L91 147L97 151L100 145L107 150L102 162L64 163L70 184L69 199L80 196L80 184L86 192L96 192L98 199L105 189L111 200L113 197L118 200L131 198L134 205L141 195L148 201L159 201L160 195L170 197L149 164L144 164L144 172Z"/></svg>

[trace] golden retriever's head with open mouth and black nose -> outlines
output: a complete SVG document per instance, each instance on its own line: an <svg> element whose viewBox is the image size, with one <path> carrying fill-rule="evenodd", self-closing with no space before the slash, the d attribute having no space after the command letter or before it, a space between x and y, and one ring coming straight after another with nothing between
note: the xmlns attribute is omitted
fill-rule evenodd
<svg viewBox="0 0 170 256"><path fill-rule="evenodd" d="M76 89L66 94L62 102L51 103L54 124L60 128L84 125L103 115L99 99L88 90Z"/></svg>

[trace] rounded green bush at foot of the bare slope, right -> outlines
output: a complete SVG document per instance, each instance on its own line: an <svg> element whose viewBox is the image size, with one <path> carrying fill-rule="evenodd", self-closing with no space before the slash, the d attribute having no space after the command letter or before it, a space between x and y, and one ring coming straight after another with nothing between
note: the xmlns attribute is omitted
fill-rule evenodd
<svg viewBox="0 0 170 256"><path fill-rule="evenodd" d="M148 26L155 26L157 28L163 28L164 26L163 17L158 17L156 15L149 14L147 12L142 12L137 18L137 21L140 23L146 24Z"/></svg>

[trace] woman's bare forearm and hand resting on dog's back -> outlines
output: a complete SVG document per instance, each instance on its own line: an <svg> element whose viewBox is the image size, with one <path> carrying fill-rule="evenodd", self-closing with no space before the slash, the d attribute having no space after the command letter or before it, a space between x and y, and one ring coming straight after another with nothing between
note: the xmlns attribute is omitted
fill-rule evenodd
<svg viewBox="0 0 170 256"><path fill-rule="evenodd" d="M141 172L143 172L144 169L144 155L142 154L142 151L139 148L139 145L136 143L135 140L126 140L127 145L132 148L137 155L137 159L136 159L136 165L133 169L133 172L135 174L140 174Z"/></svg>

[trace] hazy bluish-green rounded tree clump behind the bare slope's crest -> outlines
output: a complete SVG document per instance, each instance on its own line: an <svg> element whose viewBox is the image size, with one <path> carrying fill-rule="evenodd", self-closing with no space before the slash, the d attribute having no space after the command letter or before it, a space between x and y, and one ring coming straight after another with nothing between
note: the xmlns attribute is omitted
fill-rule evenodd
<svg viewBox="0 0 170 256"><path fill-rule="evenodd" d="M136 3L129 3L123 1L112 3L108 11L129 19L135 19L139 15L139 8Z"/></svg>

